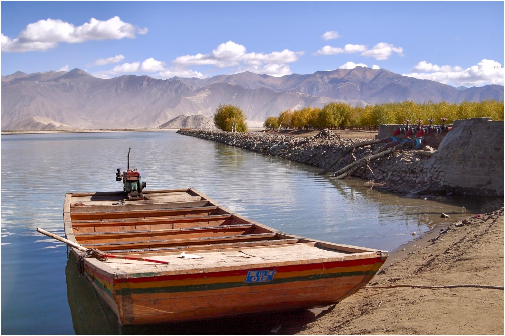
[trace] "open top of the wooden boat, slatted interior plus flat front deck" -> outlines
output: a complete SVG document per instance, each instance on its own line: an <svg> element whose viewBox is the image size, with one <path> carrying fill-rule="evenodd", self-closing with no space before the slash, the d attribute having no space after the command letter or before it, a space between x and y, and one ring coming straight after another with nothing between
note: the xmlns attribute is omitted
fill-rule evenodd
<svg viewBox="0 0 505 336"><path fill-rule="evenodd" d="M105 264L128 274L256 268L349 260L375 250L336 245L280 232L236 214L199 191L73 193L65 198L66 234L85 248L109 255ZM197 254L201 258L183 258Z"/></svg>

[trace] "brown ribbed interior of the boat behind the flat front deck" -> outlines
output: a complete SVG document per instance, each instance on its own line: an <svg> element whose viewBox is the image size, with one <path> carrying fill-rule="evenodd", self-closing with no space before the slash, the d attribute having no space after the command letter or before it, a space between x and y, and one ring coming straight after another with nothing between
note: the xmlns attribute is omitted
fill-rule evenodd
<svg viewBox="0 0 505 336"><path fill-rule="evenodd" d="M68 194L66 211L76 242L108 254L143 256L300 243L345 254L364 252L345 245L335 251L333 244L287 235L232 213L194 189L145 196L129 201L120 192Z"/></svg>

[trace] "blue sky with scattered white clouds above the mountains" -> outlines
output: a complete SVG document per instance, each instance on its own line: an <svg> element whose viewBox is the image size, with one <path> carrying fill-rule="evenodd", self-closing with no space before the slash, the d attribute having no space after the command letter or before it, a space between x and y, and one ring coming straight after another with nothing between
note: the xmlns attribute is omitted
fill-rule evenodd
<svg viewBox="0 0 505 336"><path fill-rule="evenodd" d="M505 84L503 1L2 1L0 72L167 79L383 68Z"/></svg>

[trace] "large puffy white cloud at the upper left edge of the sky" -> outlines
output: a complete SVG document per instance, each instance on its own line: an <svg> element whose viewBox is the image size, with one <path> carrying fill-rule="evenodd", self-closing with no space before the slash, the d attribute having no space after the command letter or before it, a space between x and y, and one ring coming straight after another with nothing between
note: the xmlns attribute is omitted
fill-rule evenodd
<svg viewBox="0 0 505 336"><path fill-rule="evenodd" d="M91 18L89 22L75 27L62 20L39 20L30 23L18 37L11 39L2 34L0 45L5 52L43 51L58 46L58 43L82 43L91 40L119 40L146 34L147 28L139 28L121 21L118 16L106 21Z"/></svg>

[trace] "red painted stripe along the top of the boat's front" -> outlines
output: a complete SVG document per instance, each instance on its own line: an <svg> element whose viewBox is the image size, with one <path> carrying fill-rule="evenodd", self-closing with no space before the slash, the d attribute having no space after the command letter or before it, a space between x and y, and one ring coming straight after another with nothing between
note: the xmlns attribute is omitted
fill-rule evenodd
<svg viewBox="0 0 505 336"><path fill-rule="evenodd" d="M157 281L167 281L167 280L232 277L232 276L246 275L249 270L270 270L272 268L275 268L276 273L297 272L297 271L306 271L306 270L330 270L331 268L352 267L352 266L360 266L360 265L373 265L375 263L384 263L384 260L381 260L380 257L377 257L377 258L369 258L369 259L312 263L312 264L305 264L305 265L247 268L246 270L220 271L220 272L194 273L194 274L177 274L177 275L169 275L169 276L138 277L138 278L128 278L128 279L114 279L114 283L121 283L121 282L140 283L140 282L157 282Z"/></svg>

